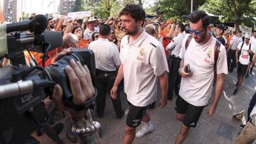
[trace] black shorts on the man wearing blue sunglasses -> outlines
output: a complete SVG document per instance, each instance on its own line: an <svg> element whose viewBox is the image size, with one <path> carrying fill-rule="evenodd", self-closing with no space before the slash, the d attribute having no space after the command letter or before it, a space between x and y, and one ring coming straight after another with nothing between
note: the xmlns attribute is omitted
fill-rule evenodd
<svg viewBox="0 0 256 144"><path fill-rule="evenodd" d="M183 125L188 127L196 127L199 117L205 106L193 106L178 96L176 99L175 109L179 114L185 114Z"/></svg>

